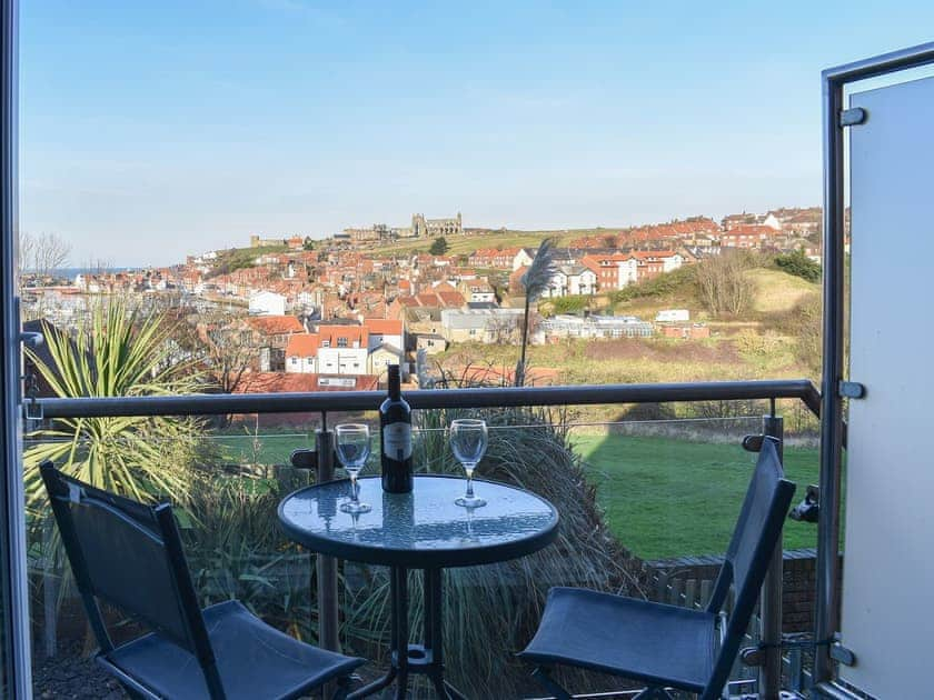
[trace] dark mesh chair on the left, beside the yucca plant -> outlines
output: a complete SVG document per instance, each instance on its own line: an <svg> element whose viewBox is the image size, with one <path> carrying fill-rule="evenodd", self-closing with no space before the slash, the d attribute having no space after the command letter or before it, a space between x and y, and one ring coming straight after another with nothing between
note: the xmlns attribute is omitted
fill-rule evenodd
<svg viewBox="0 0 934 700"><path fill-rule="evenodd" d="M98 662L135 697L287 699L328 681L344 698L364 663L302 643L240 602L201 610L169 503L149 507L41 466ZM115 647L98 600L153 631Z"/></svg>

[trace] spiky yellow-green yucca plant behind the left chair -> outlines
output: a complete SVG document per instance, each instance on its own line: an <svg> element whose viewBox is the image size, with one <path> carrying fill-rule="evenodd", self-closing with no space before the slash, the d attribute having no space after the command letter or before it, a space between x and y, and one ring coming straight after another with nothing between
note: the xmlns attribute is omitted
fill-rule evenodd
<svg viewBox="0 0 934 700"><path fill-rule="evenodd" d="M195 392L199 373L190 362L175 361L171 333L162 317L115 298L98 302L73 338L46 333L51 362L31 350L27 353L58 397ZM38 466L46 459L108 491L138 500L167 496L185 503L197 432L196 421L175 417L59 419L27 436L28 504L42 502Z"/></svg>

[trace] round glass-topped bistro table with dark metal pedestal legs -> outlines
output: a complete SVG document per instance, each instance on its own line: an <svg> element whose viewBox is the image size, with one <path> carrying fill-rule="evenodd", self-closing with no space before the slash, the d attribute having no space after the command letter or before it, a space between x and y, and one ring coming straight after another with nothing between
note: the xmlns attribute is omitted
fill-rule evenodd
<svg viewBox="0 0 934 700"><path fill-rule="evenodd" d="M441 570L516 559L552 543L558 513L545 499L503 483L475 480L481 508L455 504L464 479L415 477L411 493L386 493L378 477L358 481L359 499L369 512L340 509L350 500L349 480L328 481L286 497L279 522L288 537L308 549L340 559L390 568L390 658L381 679L351 693L364 698L397 682L405 698L408 676L427 674L441 698L463 698L444 679L441 649ZM425 577L425 629L420 644L409 644L409 569Z"/></svg>

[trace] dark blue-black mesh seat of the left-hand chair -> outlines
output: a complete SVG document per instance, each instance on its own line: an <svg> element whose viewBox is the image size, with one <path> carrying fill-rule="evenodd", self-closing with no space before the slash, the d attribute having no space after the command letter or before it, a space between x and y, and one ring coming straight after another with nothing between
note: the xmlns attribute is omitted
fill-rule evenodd
<svg viewBox="0 0 934 700"><path fill-rule="evenodd" d="M202 614L228 700L297 698L360 664L359 659L296 641L236 600L205 608ZM118 647L100 661L147 679L147 686L165 698L210 697L195 657L159 634Z"/></svg>

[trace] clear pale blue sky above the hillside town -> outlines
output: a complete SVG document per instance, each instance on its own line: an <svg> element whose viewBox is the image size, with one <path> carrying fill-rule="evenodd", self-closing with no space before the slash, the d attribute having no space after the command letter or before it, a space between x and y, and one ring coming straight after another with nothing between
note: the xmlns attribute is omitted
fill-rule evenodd
<svg viewBox="0 0 934 700"><path fill-rule="evenodd" d="M20 223L77 267L416 211L818 204L819 71L934 39L934 2L23 0L20 23Z"/></svg>

